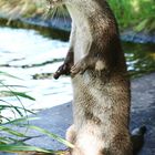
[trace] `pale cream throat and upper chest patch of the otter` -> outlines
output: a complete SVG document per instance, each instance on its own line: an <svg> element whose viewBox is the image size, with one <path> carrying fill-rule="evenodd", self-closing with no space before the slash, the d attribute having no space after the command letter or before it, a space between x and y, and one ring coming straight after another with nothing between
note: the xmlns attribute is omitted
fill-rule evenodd
<svg viewBox="0 0 155 155"><path fill-rule="evenodd" d="M72 8L68 6L68 10L71 14L72 22L75 25L75 34L73 40L73 50L74 50L74 63L80 61L86 53L92 42L92 35L90 31L89 19L83 13L83 10Z"/></svg>

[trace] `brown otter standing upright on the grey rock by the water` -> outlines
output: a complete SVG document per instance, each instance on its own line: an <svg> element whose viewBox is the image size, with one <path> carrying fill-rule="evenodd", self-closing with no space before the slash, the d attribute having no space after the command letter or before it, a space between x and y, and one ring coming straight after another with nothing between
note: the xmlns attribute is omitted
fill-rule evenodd
<svg viewBox="0 0 155 155"><path fill-rule="evenodd" d="M71 73L72 155L133 155L131 90L117 23L106 0L50 0L72 18L70 49L54 78Z"/></svg>

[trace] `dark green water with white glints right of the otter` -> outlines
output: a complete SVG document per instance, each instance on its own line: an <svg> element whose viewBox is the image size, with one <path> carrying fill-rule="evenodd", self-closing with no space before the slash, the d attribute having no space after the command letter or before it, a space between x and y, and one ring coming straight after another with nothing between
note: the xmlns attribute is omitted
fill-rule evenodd
<svg viewBox="0 0 155 155"><path fill-rule="evenodd" d="M123 49L132 78L155 71L155 44L123 42Z"/></svg>

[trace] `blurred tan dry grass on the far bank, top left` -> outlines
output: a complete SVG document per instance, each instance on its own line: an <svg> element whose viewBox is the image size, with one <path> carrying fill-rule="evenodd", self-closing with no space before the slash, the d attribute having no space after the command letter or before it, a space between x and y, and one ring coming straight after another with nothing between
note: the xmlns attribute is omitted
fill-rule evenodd
<svg viewBox="0 0 155 155"><path fill-rule="evenodd" d="M43 0L0 0L0 16L12 19L41 16L45 9Z"/></svg>

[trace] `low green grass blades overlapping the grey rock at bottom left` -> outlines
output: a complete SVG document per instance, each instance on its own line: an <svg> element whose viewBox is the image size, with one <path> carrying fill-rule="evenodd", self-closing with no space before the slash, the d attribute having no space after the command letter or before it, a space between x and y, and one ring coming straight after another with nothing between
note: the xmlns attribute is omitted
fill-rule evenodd
<svg viewBox="0 0 155 155"><path fill-rule="evenodd" d="M39 131L41 134L48 135L49 137L52 137L52 138L56 140L60 143L66 145L68 147L71 147L71 148L74 147L68 141L61 138L60 136L58 136L58 135L55 135L53 133L50 133L46 130L43 130L43 128L38 127L38 126L24 124L24 121L30 121L30 120L34 120L34 118L18 118L18 120L10 121L8 123L4 123L4 124L0 125L0 132L6 132L6 133L9 133L11 135L11 137L9 137L9 136L0 137L0 151L2 151L2 152L11 152L11 153L39 152L39 153L52 154L52 155L53 154L54 155L63 155L64 154L65 151L64 152L63 151L52 151L52 149L45 149L45 148L28 145L23 141L29 140L31 137L24 135L23 133L17 132L17 131L6 126L7 124L11 125L11 126L19 125L19 123L22 123L22 126L25 126L29 130ZM17 138L13 138L12 136L18 136L18 137L20 137L22 140L17 141Z"/></svg>

